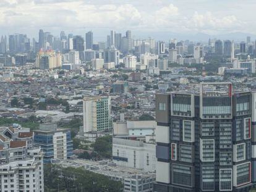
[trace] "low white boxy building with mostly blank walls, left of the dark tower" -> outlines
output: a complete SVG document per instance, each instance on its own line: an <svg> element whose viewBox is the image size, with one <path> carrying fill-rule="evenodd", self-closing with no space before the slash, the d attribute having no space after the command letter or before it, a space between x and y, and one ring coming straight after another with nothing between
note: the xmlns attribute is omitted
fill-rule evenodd
<svg viewBox="0 0 256 192"><path fill-rule="evenodd" d="M156 144L113 138L113 162L122 167L155 172Z"/></svg>

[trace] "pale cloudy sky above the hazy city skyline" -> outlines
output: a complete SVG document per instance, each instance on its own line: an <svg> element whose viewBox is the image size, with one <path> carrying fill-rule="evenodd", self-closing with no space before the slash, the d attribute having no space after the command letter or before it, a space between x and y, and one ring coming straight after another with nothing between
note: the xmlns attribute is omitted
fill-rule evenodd
<svg viewBox="0 0 256 192"><path fill-rule="evenodd" d="M256 34L255 0L0 0L0 34L43 28L59 35L93 30Z"/></svg>

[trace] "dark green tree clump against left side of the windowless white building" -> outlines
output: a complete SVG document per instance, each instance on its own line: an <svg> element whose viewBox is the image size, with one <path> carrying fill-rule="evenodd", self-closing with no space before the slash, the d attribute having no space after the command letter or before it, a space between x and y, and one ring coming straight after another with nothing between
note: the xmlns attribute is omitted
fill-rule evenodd
<svg viewBox="0 0 256 192"><path fill-rule="evenodd" d="M95 143L91 145L93 151L97 152L100 157L111 158L112 157L112 136L103 136L97 138Z"/></svg>

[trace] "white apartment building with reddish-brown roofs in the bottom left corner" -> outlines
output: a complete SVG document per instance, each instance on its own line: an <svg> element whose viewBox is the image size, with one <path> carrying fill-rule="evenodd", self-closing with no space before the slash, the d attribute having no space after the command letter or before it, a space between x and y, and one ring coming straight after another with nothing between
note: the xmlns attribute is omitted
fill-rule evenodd
<svg viewBox="0 0 256 192"><path fill-rule="evenodd" d="M43 192L43 151L33 132L1 127L0 135L0 190Z"/></svg>

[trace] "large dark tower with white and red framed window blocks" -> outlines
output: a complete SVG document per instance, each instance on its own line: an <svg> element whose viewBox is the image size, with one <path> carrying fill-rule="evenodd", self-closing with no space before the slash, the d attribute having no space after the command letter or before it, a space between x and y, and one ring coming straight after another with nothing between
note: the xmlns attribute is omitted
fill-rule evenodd
<svg viewBox="0 0 256 192"><path fill-rule="evenodd" d="M249 191L255 182L255 93L202 83L156 94L154 191Z"/></svg>

